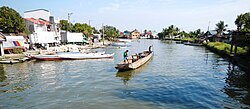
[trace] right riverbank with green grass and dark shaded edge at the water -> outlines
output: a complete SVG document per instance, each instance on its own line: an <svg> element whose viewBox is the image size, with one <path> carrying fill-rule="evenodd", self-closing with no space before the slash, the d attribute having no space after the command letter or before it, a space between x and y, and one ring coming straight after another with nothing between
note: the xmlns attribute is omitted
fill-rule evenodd
<svg viewBox="0 0 250 109"><path fill-rule="evenodd" d="M205 47L215 52L216 54L229 59L232 63L236 63L238 66L243 68L246 71L250 71L250 60L247 58L247 49L246 47L237 47L237 54L230 54L231 45L223 42L209 42L205 44ZM233 51L234 51L233 47Z"/></svg>

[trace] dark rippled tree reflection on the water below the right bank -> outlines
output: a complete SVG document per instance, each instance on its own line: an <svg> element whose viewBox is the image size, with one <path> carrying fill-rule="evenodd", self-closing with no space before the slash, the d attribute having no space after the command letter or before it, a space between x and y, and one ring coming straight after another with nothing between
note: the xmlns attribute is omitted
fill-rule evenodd
<svg viewBox="0 0 250 109"><path fill-rule="evenodd" d="M240 70L235 64L229 62L228 73L226 77L226 86L224 92L231 98L250 105L250 82L249 74Z"/></svg>

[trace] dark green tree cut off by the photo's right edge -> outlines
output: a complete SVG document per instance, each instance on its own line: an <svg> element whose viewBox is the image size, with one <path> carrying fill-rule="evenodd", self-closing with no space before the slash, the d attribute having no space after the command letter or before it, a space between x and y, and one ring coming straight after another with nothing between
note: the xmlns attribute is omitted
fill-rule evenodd
<svg viewBox="0 0 250 109"><path fill-rule="evenodd" d="M239 31L250 31L250 12L239 15L234 23Z"/></svg>

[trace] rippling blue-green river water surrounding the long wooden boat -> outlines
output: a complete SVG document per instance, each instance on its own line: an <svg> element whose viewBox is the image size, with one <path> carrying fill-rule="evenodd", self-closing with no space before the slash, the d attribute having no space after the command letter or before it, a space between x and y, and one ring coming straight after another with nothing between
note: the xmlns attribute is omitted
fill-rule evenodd
<svg viewBox="0 0 250 109"><path fill-rule="evenodd" d="M153 45L154 56L127 72L114 68ZM1 109L250 108L249 76L204 47L135 40L104 49L114 59L0 64Z"/></svg>

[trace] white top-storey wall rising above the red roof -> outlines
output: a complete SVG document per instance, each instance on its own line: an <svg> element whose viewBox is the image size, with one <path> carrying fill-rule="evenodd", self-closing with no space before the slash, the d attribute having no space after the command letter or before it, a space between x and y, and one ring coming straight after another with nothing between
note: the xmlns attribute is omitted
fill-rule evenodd
<svg viewBox="0 0 250 109"><path fill-rule="evenodd" d="M24 18L42 18L44 20L49 21L50 12L45 10L34 10L34 11L26 11L24 12Z"/></svg>

